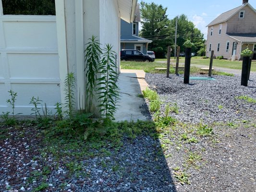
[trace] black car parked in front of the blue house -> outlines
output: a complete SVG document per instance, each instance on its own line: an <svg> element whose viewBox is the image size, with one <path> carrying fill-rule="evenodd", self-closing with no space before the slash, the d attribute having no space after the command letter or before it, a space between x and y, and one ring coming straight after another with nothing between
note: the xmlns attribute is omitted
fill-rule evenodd
<svg viewBox="0 0 256 192"><path fill-rule="evenodd" d="M121 60L134 60L134 61L146 61L153 62L154 58L149 55L144 55L139 50L135 49L122 49L121 50Z"/></svg>

